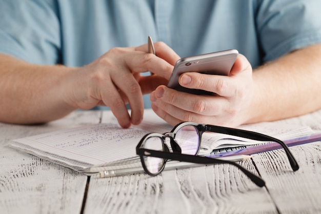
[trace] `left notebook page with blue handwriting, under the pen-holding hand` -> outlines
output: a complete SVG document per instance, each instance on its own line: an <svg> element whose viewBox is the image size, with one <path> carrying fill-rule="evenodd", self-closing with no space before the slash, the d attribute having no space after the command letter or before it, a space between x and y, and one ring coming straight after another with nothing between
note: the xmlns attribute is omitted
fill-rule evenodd
<svg viewBox="0 0 321 214"><path fill-rule="evenodd" d="M49 158L104 165L134 157L136 145L146 133L135 127L122 129L115 124L96 124L17 139L18 144L13 146L41 152Z"/></svg>

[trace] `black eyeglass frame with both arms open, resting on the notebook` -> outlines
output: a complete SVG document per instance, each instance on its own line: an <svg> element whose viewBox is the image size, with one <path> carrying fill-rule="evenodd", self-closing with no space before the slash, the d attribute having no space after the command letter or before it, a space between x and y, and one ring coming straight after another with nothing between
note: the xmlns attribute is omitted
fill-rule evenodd
<svg viewBox="0 0 321 214"><path fill-rule="evenodd" d="M178 144L174 140L176 132L180 128L187 126L187 125L194 126L196 128L196 130L198 131L198 142L199 143L198 143L198 148L197 148L197 152L195 155L180 153L180 147L178 146ZM168 160L184 161L184 162L199 163L199 164L227 163L227 164L232 164L232 165L238 167L258 186L262 187L265 185L265 182L261 178L259 178L258 176L256 176L252 172L248 171L244 167L242 167L234 162L197 156L200 144L202 143L201 142L202 134L207 131L233 135L233 136L247 138L247 139L256 140L256 141L276 142L284 148L293 171L296 171L299 169L299 166L298 166L293 154L289 150L289 147L283 141L280 141L276 138L270 137L269 135L254 132L254 131L248 131L248 130L242 130L242 129L236 129L236 128L228 128L228 127L222 127L222 126L214 126L214 125L208 125L208 124L199 124L199 123L194 123L194 122L179 123L172 129L171 132L166 132L164 134L159 134L159 133L146 134L141 139L141 141L139 141L138 145L136 146L136 154L138 154L141 157L141 162L142 162L143 168L144 168L145 172L148 173L150 176L157 176L157 174L162 172L164 170L166 162ZM163 147L164 147L163 151L142 148L143 143L150 137L158 137L158 138L162 139L162 143L163 143ZM171 143L171 147L172 147L173 152L170 152L168 146L165 144L166 138L170 138L170 143ZM163 159L163 165L157 173L151 173L148 170L148 168L145 165L144 156L150 156L150 157L156 157L156 158Z"/></svg>

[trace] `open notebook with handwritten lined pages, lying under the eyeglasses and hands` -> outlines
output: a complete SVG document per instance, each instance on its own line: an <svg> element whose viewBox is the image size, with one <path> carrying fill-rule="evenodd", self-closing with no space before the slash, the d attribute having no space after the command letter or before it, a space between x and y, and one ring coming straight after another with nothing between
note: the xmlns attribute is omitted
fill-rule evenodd
<svg viewBox="0 0 321 214"><path fill-rule="evenodd" d="M276 127L272 123L260 123L239 128L271 135L280 140L312 134L310 127ZM111 112L106 113L103 123L44 133L17 139L10 146L36 155L39 158L72 168L94 173L123 168L142 168L136 155L136 145L149 132L164 133L172 126L159 119L151 110L146 110L144 121L139 126L122 129ZM217 133L204 133L199 154L212 150L257 144L237 137ZM262 142L260 142L262 143ZM175 164L173 162L173 164ZM188 166L188 164L186 164ZM174 166L174 165L173 165ZM171 162L166 165L171 168ZM143 170L143 168L142 168Z"/></svg>

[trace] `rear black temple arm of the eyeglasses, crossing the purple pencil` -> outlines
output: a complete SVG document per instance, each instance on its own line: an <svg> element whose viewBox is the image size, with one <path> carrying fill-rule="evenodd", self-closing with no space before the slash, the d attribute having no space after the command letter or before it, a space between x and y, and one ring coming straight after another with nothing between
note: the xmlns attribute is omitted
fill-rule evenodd
<svg viewBox="0 0 321 214"><path fill-rule="evenodd" d="M247 139L256 140L256 141L273 141L273 142L276 142L276 143L280 144L284 148L293 171L296 171L296 170L299 169L299 165L297 164L297 162L296 162L293 154L291 153L289 147L283 141L280 141L280 140L278 140L276 138L270 137L269 135L258 133L258 132L254 132L254 131L247 131L247 130L220 127L220 126L213 126L213 125L205 125L204 129L205 129L204 131L224 133L224 134L229 134L229 135L242 137L242 138L247 138Z"/></svg>

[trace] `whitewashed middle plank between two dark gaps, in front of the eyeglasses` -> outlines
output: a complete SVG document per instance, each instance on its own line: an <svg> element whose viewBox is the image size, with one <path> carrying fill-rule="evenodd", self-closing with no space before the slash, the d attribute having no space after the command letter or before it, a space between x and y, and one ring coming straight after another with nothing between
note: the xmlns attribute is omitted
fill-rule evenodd
<svg viewBox="0 0 321 214"><path fill-rule="evenodd" d="M241 163L255 171L251 160ZM236 167L209 165L90 180L85 213L277 213L266 189Z"/></svg>

